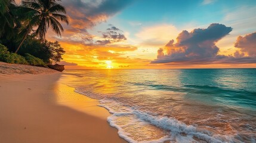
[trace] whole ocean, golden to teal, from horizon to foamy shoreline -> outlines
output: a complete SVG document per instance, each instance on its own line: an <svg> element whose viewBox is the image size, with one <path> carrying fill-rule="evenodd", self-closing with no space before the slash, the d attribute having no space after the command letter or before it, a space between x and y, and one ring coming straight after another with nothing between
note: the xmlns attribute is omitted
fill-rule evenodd
<svg viewBox="0 0 256 143"><path fill-rule="evenodd" d="M256 69L66 70L128 142L256 142Z"/></svg>

